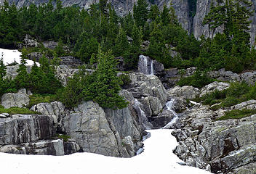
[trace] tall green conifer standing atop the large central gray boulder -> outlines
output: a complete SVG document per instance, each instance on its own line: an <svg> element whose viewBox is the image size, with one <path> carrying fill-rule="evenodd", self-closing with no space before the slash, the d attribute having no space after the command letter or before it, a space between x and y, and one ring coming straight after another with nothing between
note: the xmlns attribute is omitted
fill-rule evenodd
<svg viewBox="0 0 256 174"><path fill-rule="evenodd" d="M103 53L99 49L97 70L93 72L93 81L89 88L84 88L85 100L92 99L100 104L100 107L121 109L127 107L127 101L119 96L121 79L117 77L116 59L111 51Z"/></svg>

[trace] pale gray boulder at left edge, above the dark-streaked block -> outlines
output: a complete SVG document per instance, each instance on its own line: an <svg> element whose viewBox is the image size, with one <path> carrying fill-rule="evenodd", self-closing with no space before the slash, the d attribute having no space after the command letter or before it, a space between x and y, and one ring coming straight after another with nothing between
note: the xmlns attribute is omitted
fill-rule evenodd
<svg viewBox="0 0 256 174"><path fill-rule="evenodd" d="M26 90L20 90L17 93L7 93L1 96L1 105L4 108L25 107L29 104L29 97Z"/></svg>

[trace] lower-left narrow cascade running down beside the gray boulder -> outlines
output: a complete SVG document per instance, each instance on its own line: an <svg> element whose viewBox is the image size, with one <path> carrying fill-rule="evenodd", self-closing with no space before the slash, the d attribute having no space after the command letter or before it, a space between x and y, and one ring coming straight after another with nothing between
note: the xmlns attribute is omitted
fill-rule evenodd
<svg viewBox="0 0 256 174"><path fill-rule="evenodd" d="M137 101L137 99L135 99L133 107L135 107L137 115L139 116L140 124L143 125L145 129L151 129L153 128L153 125L148 122L148 118L145 115L145 112L143 111L143 109L141 109L142 106L143 104L141 104L140 101Z"/></svg>

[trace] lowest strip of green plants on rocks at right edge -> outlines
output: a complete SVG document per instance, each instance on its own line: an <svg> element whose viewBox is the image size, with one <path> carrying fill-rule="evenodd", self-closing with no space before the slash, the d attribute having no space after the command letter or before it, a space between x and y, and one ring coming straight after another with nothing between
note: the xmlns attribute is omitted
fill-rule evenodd
<svg viewBox="0 0 256 174"><path fill-rule="evenodd" d="M240 119L240 118L249 117L255 114L256 114L255 109L242 109L242 110L237 109L237 110L231 110L231 111L225 112L225 115L217 118L217 120Z"/></svg>

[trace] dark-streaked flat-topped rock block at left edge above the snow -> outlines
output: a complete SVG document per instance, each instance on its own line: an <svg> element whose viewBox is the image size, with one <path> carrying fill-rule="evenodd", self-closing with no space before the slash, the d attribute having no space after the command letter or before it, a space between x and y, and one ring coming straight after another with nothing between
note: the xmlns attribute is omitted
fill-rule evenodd
<svg viewBox="0 0 256 174"><path fill-rule="evenodd" d="M21 144L55 135L53 120L46 115L12 115L0 118L0 145Z"/></svg>

